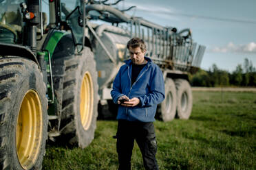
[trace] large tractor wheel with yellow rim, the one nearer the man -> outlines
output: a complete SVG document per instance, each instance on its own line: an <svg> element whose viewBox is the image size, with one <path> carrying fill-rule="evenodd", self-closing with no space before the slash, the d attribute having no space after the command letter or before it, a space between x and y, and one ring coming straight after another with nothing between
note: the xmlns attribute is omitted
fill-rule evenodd
<svg viewBox="0 0 256 170"><path fill-rule="evenodd" d="M85 148L94 139L98 116L96 62L87 47L83 54L67 56L61 60L65 66L61 138Z"/></svg>

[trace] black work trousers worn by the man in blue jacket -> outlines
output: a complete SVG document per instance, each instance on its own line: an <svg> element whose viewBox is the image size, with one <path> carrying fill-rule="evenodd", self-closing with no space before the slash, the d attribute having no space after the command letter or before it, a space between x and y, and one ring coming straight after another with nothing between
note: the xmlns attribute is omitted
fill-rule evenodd
<svg viewBox="0 0 256 170"><path fill-rule="evenodd" d="M131 169L131 154L134 139L142 154L145 169L158 169L156 161L156 134L153 122L135 122L118 120L116 150L118 153L118 170Z"/></svg>

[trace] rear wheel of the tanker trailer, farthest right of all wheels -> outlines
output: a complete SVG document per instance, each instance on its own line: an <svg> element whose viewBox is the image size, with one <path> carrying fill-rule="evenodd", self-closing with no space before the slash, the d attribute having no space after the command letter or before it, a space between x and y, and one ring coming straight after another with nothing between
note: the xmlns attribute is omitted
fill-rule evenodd
<svg viewBox="0 0 256 170"><path fill-rule="evenodd" d="M193 105L191 86L188 81L183 79L176 79L175 86L177 90L177 116L180 119L189 119Z"/></svg>

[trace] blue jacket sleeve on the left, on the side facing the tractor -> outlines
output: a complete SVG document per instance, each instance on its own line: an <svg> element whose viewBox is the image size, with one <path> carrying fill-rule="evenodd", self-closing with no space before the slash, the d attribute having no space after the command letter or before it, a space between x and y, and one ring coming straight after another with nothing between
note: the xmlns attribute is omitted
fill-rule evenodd
<svg viewBox="0 0 256 170"><path fill-rule="evenodd" d="M121 97L122 90L121 90L121 69L118 71L118 74L116 75L116 78L113 82L113 89L111 90L111 97L114 101L114 104L118 104L118 99Z"/></svg>

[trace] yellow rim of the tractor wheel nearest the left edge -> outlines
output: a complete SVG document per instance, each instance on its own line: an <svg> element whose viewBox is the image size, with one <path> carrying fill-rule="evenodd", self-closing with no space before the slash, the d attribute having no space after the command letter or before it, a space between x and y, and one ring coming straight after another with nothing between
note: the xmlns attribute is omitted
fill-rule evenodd
<svg viewBox="0 0 256 170"><path fill-rule="evenodd" d="M28 90L23 97L16 130L17 156L23 169L30 169L36 162L41 146L43 113L39 95Z"/></svg>

